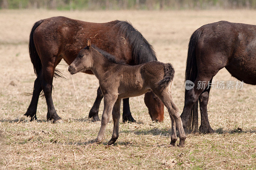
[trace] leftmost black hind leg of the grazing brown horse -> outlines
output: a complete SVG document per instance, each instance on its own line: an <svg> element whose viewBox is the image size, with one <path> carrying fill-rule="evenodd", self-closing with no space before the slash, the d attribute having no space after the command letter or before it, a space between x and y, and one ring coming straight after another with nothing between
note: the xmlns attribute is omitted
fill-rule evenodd
<svg viewBox="0 0 256 170"><path fill-rule="evenodd" d="M34 82L34 90L33 90L33 95L32 99L30 102L30 105L28 107L27 112L24 114L25 116L31 117L30 121L36 120L36 109L37 109L37 103L38 103L38 98L41 93L42 89L42 79L43 79L43 74L42 70L40 73L37 75L37 78Z"/></svg>

